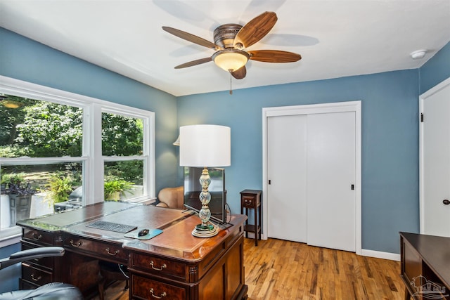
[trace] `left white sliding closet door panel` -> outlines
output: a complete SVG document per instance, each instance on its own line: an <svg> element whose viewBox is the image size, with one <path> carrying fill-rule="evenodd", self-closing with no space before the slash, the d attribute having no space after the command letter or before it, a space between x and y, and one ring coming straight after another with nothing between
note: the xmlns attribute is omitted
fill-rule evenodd
<svg viewBox="0 0 450 300"><path fill-rule="evenodd" d="M307 242L307 115L267 120L267 236Z"/></svg>

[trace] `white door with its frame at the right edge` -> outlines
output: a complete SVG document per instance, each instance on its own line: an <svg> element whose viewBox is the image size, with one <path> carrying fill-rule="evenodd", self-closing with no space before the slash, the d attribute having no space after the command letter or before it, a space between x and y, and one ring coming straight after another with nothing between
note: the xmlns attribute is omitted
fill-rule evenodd
<svg viewBox="0 0 450 300"><path fill-rule="evenodd" d="M450 237L450 79L424 95L420 232Z"/></svg>

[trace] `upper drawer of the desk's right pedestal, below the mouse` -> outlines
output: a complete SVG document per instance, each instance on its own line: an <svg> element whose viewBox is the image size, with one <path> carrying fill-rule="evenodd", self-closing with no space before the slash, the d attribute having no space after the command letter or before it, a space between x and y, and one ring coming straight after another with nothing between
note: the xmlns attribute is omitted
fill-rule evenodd
<svg viewBox="0 0 450 300"><path fill-rule="evenodd" d="M136 268L160 276L171 276L186 280L186 265L169 259L160 259L145 254L131 254L131 268Z"/></svg>

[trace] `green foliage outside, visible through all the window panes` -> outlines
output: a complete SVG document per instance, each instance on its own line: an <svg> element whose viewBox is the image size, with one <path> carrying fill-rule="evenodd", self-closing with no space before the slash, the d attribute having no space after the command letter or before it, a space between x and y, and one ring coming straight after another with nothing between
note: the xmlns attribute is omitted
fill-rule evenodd
<svg viewBox="0 0 450 300"><path fill-rule="evenodd" d="M0 102L0 157L82 156L82 108L17 96L8 96L7 100L20 105L10 108ZM103 113L102 152L105 156L142 155L142 119ZM2 181L9 181L8 176L14 176L19 169L27 176L36 173L34 169L37 169L36 166L34 169L28 166L12 167L7 172L2 168ZM54 202L67 200L70 192L82 185L82 164L47 164L42 168L49 175L45 187L40 188L49 190ZM127 183L122 190L129 189L133 184L141 185L143 162L131 160L106 164L105 186L108 181Z"/></svg>

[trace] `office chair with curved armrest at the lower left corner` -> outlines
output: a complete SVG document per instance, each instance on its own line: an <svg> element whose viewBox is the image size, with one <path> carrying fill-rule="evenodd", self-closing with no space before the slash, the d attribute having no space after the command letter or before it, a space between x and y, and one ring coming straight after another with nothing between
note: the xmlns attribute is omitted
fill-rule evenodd
<svg viewBox="0 0 450 300"><path fill-rule="evenodd" d="M0 259L0 270L12 266L15 263L30 259L41 259L50 256L63 256L63 247L40 247L27 249L11 254L6 259ZM82 293L73 285L62 282L52 282L42 285L37 289L23 289L20 291L0 294L0 300L82 300Z"/></svg>

